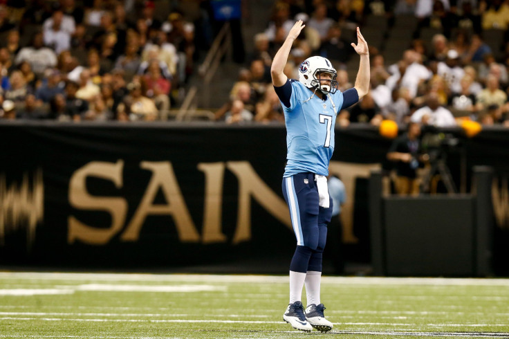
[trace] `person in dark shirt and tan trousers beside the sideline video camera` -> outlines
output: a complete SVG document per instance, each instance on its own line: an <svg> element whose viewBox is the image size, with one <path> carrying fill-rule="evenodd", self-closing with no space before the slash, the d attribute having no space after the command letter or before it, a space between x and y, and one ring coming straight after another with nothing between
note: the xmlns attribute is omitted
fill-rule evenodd
<svg viewBox="0 0 509 339"><path fill-rule="evenodd" d="M387 153L387 159L396 162L396 192L400 195L419 193L417 168L427 160L420 154L419 136L420 124L410 122L407 133L396 138Z"/></svg>

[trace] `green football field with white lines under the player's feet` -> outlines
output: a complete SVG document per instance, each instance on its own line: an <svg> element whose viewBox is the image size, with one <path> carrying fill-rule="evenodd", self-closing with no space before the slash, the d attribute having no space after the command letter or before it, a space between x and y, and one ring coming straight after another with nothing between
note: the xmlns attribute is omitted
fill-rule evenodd
<svg viewBox="0 0 509 339"><path fill-rule="evenodd" d="M5 272L0 338L509 338L509 280L324 277L325 334L283 322L287 282Z"/></svg>

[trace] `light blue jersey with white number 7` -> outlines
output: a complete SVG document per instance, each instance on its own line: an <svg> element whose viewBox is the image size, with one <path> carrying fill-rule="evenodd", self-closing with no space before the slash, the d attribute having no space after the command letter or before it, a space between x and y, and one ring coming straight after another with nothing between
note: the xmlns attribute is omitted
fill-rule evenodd
<svg viewBox="0 0 509 339"><path fill-rule="evenodd" d="M291 86L290 107L282 104L288 149L284 177L302 172L326 176L334 152L334 126L343 93L336 91L322 100L320 92L313 95L301 82L291 80Z"/></svg>

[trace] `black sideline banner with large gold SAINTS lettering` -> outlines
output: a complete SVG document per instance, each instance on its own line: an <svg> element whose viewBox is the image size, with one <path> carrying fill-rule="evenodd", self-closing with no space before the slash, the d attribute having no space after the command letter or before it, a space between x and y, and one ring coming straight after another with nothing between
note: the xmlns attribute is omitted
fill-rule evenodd
<svg viewBox="0 0 509 339"><path fill-rule="evenodd" d="M455 181L460 158L468 173L494 167L494 259L509 273L509 131L445 132L466 155L451 152ZM295 236L281 193L284 126L1 122L0 140L4 266L287 271ZM351 261L369 258L367 178L387 168L390 145L375 127L336 131L331 173L346 185Z"/></svg>

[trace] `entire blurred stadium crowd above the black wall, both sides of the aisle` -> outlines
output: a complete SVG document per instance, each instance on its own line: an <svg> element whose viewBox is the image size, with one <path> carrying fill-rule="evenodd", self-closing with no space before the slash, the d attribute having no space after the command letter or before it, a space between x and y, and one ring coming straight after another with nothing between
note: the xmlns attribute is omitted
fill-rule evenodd
<svg viewBox="0 0 509 339"><path fill-rule="evenodd" d="M169 12L164 19L160 3ZM212 42L210 3L0 0L0 119L157 120L178 107L198 54ZM391 64L384 44L367 37L371 91L340 112L340 125L390 119L450 126L469 119L509 127L509 0L275 1L215 119L284 121L270 64L298 19L306 28L286 75L297 78L304 59L322 55L335 65L340 90L350 88L351 33L356 26L378 29L373 16L384 19L382 39L401 29L394 27L399 17L416 24ZM436 32L430 39L421 35L428 28ZM484 39L488 32L501 39Z"/></svg>

